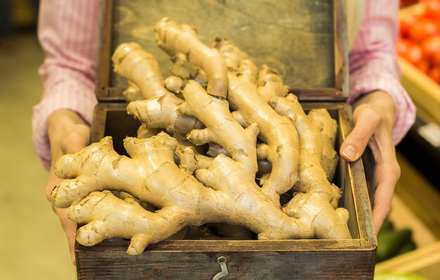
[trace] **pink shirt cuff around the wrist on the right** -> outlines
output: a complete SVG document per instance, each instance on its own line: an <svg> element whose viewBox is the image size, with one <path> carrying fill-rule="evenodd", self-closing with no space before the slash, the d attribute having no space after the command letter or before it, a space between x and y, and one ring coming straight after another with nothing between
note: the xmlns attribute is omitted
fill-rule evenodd
<svg viewBox="0 0 440 280"><path fill-rule="evenodd" d="M397 145L415 122L415 105L399 81L390 74L367 75L352 79L350 88L349 103L371 91L384 91L392 96L396 103L392 139Z"/></svg>

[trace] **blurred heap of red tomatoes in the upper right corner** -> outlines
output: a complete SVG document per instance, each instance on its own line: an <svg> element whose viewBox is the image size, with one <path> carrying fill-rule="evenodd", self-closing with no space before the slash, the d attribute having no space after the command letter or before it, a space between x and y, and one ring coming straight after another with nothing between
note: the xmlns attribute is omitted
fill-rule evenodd
<svg viewBox="0 0 440 280"><path fill-rule="evenodd" d="M440 84L440 0L408 9L400 19L397 53Z"/></svg>

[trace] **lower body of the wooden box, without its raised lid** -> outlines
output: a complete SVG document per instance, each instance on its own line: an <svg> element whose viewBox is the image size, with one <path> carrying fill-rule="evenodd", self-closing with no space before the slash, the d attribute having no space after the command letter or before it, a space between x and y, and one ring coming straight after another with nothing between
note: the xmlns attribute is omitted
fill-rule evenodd
<svg viewBox="0 0 440 280"><path fill-rule="evenodd" d="M324 107L339 125L337 146L351 130L349 105L308 102L304 109ZM125 104L100 104L92 126L92 142L112 135L117 152L122 139L135 135L137 121ZM212 279L226 257L227 279L371 279L376 241L361 161L340 161L335 183L342 187L341 206L350 213L347 240L162 241L142 255L127 255L129 241L112 239L93 247L76 244L78 279Z"/></svg>

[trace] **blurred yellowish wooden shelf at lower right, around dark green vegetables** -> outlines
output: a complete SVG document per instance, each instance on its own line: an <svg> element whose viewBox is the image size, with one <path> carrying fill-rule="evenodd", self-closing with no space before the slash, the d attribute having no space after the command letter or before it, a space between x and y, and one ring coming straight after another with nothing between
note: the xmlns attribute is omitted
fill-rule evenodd
<svg viewBox="0 0 440 280"><path fill-rule="evenodd" d="M375 273L440 275L440 193L402 154L397 152L401 178L396 184L389 220L396 229L411 229L417 249L377 263Z"/></svg>

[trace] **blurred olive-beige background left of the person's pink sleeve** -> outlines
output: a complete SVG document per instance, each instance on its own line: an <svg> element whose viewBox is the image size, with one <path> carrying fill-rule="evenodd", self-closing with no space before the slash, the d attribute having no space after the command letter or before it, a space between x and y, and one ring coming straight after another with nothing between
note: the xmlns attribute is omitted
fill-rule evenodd
<svg viewBox="0 0 440 280"><path fill-rule="evenodd" d="M0 0L0 279L76 279L31 141L44 60L34 0Z"/></svg>

